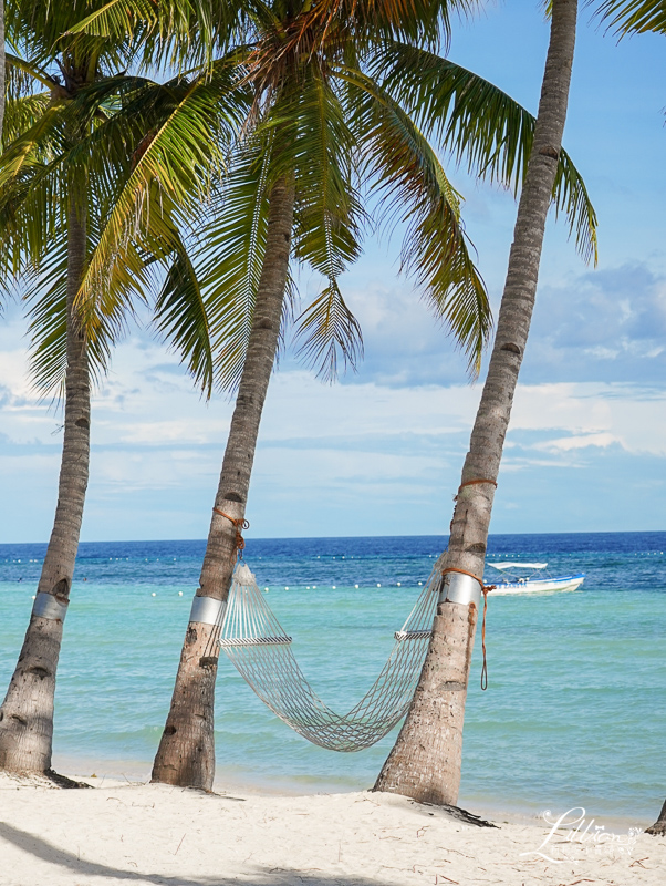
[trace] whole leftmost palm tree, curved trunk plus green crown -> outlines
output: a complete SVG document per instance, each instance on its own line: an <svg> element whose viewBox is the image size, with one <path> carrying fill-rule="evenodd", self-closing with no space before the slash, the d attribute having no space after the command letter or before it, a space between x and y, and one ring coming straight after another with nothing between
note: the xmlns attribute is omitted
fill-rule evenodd
<svg viewBox="0 0 666 886"><path fill-rule="evenodd" d="M100 6L89 2L87 9ZM198 143L192 150L187 138L180 138L173 163L176 172L178 164L187 167L187 176L179 179L183 189L204 186L199 173L205 169L208 175L225 141L217 125L219 115L210 115L206 104L207 95L208 104L217 104L215 76L206 83L202 78L195 83L181 78L159 86L115 74L132 58L132 43L67 35L80 16L81 11L66 6L54 11L14 3L8 10L12 43L25 49L29 58L8 56L12 89L4 126L7 147L0 157L0 276L25 286L32 307L37 383L44 392L60 390L64 399L53 530L25 639L0 708L0 767L10 771L50 771L55 673L89 476L91 372L104 371L111 344L122 331L123 311L131 310L133 295L142 295L147 254L143 255L143 278L135 272L113 281L117 310L97 318L93 338L89 336L91 318L77 302L85 268L107 235L105 220L119 186L141 179L148 165L143 144L146 126L156 127L160 135L153 156L162 148L164 133L170 131L174 113L183 117L189 112ZM156 39L162 40L159 33ZM46 92L35 93L34 83ZM207 143L212 147L202 152ZM162 244L153 260L184 251L171 218L178 187L163 182L159 196ZM163 331L168 331L176 309L180 319L189 317L189 327L180 329L175 343L206 389L211 360L201 305L157 299L157 323Z"/></svg>

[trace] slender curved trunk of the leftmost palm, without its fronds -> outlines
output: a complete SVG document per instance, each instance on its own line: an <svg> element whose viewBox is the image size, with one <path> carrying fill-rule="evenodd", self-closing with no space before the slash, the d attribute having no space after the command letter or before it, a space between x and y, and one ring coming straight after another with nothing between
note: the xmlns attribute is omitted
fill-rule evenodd
<svg viewBox="0 0 666 886"><path fill-rule="evenodd" d="M55 671L87 486L90 377L74 308L86 255L86 203L75 194L70 195L67 222L67 369L58 506L23 647L0 708L0 769L10 772L51 769Z"/></svg>

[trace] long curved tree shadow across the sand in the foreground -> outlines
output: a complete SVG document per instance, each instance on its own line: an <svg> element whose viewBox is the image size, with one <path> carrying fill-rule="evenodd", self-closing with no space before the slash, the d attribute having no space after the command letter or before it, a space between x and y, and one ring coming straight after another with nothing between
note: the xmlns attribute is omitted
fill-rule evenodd
<svg viewBox="0 0 666 886"><path fill-rule="evenodd" d="M79 858L71 852L61 849L52 843L35 836L27 831L12 827L10 824L0 822L0 839L11 843L34 858L58 865L72 872L79 877L106 877L108 880L118 883L135 884L160 884L162 886L238 886L242 880L246 886L384 886L384 882L368 877L357 877L348 875L324 875L315 870L295 870L274 867L272 869L258 868L249 875L241 877L196 877L184 878L180 876L168 876L164 874L141 874L135 870L123 870L122 868L110 867L108 865ZM34 883L38 880L34 879Z"/></svg>

